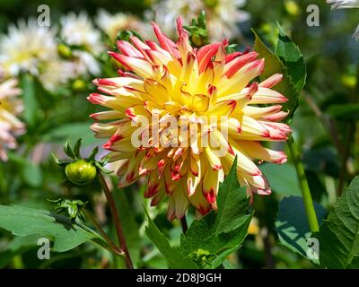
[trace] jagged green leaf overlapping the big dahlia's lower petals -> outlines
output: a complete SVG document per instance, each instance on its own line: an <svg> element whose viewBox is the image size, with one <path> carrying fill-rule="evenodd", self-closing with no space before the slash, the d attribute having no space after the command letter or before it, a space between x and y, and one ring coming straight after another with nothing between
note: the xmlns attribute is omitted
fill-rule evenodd
<svg viewBox="0 0 359 287"><path fill-rule="evenodd" d="M240 187L238 183L236 161L219 187L218 212L212 211L192 222L180 240L180 251L186 256L198 257L201 250L213 256L205 267L221 265L228 255L241 247L247 236L252 214L246 214L249 198L245 187Z"/></svg>

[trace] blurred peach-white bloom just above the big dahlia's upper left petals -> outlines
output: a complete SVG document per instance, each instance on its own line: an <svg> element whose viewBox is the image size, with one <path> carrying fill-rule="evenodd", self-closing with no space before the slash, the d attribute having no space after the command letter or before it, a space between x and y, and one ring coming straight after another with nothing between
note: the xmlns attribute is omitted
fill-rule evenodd
<svg viewBox="0 0 359 287"><path fill-rule="evenodd" d="M116 39L121 30L136 30L142 33L144 28L143 22L135 15L127 13L110 14L104 9L99 10L96 23L112 41Z"/></svg>

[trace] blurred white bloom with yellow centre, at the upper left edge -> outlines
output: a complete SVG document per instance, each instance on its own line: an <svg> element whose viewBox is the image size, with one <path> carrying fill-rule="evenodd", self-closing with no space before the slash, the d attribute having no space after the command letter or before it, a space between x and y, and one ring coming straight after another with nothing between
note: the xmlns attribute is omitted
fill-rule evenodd
<svg viewBox="0 0 359 287"><path fill-rule="evenodd" d="M39 75L41 65L57 56L56 30L39 27L34 19L9 26L0 39L0 65L11 75L30 72Z"/></svg>

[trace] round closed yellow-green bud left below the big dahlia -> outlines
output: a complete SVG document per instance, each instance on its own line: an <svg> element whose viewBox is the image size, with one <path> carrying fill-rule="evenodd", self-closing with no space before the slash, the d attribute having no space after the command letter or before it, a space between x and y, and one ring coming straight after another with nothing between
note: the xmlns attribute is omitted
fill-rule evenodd
<svg viewBox="0 0 359 287"><path fill-rule="evenodd" d="M83 186L92 182L96 177L96 167L84 160L74 161L66 165L66 178L75 185Z"/></svg>

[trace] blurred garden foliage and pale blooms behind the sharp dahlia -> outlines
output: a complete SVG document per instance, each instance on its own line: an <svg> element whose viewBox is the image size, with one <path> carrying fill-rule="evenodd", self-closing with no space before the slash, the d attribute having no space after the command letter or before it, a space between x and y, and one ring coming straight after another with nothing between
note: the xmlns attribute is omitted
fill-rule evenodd
<svg viewBox="0 0 359 287"><path fill-rule="evenodd" d="M50 9L48 28L37 25L40 4ZM307 25L310 4L320 9L318 27ZM225 37L244 50L253 45L254 29L273 48L280 22L302 50L308 78L293 117L293 136L302 149L314 200L327 207L332 204L359 171L359 42L352 38L359 10L330 11L323 0L0 0L0 91L9 95L8 106L0 108L0 204L51 209L47 198L89 201L92 213L113 233L101 187L79 188L66 182L50 152L65 157L61 149L68 137L73 143L82 137L88 153L101 145L89 128L89 115L96 107L86 97L95 91L92 79L116 76L118 66L106 51L114 49L121 30L136 30L144 39L153 39L149 22L155 21L176 37L178 14L189 22L201 10L206 11L212 40ZM18 83L1 86L11 79ZM16 120L9 124L1 109L16 114ZM256 197L250 236L229 261L236 268L312 268L310 261L278 243L275 230L278 201L301 196L293 164L261 168L274 193ZM116 190L117 178L111 180ZM139 183L114 193L127 219L124 229L131 256L137 267L166 268L144 236L142 205L156 215L155 222L172 244L179 242L180 223L167 221L166 204L149 208L143 192L144 184ZM193 220L193 214L188 218ZM36 240L0 230L0 268L121 267L107 251L90 244L45 261L36 252Z"/></svg>

